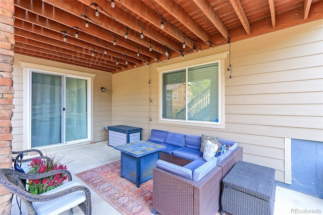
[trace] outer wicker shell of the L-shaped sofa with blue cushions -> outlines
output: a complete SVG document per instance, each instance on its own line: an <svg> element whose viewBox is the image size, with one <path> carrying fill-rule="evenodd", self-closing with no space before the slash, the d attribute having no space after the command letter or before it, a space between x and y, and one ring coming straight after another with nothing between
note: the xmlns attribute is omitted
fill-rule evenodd
<svg viewBox="0 0 323 215"><path fill-rule="evenodd" d="M238 160L242 160L242 148L238 147L231 154L197 182L158 167L154 168L152 213L216 214L221 208L222 179L225 176L223 173L229 172ZM191 162L176 156L172 160L173 163L175 160L181 164Z"/></svg>

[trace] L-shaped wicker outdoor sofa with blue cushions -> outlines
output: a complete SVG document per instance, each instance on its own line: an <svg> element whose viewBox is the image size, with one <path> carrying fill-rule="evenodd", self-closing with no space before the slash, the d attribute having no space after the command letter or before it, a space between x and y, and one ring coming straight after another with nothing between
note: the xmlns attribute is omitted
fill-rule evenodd
<svg viewBox="0 0 323 215"><path fill-rule="evenodd" d="M206 161L200 150L204 138L151 130L147 141L166 146L153 169L154 214L215 214L221 209L222 179L242 160L242 148L219 139L228 149Z"/></svg>

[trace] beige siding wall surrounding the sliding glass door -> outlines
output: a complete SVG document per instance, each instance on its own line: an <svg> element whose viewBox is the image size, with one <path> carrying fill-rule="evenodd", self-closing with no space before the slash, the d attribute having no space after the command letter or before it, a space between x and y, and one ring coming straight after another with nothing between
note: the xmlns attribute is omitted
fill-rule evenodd
<svg viewBox="0 0 323 215"><path fill-rule="evenodd" d="M36 59L28 56L15 54L13 81L15 89L15 98L13 103L15 104L14 116L12 118L13 127L13 150L26 149L27 144L24 144L24 122L23 122L23 88L24 77L23 67L20 66L19 61L30 62L38 65L57 67L62 69L74 70L85 73L96 74L93 79L93 138L94 142L106 140L105 131L102 131L102 127L106 127L111 124L112 121L112 74L109 72L103 72L93 69L87 69L82 67L76 67L73 65L67 65L63 63L57 63L42 59ZM105 88L105 92L101 92L101 87Z"/></svg>

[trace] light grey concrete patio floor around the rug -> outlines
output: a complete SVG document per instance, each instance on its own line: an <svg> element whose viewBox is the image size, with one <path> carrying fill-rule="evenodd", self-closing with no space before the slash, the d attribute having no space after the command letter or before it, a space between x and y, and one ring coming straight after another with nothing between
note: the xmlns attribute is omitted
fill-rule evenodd
<svg viewBox="0 0 323 215"><path fill-rule="evenodd" d="M63 164L67 164L67 169L71 172L73 180L79 181L85 186L86 184L78 177L74 176L74 174L99 167L104 164L109 164L120 159L120 151L115 150L111 146L107 146L107 141L79 146L66 146L59 150L57 148L47 149L44 154L47 154L47 156L51 155L62 157L61 162ZM96 194L95 191L92 189L90 190L93 215L121 214L112 205ZM78 207L74 207L73 210L75 215L83 214ZM275 215L313 214L313 212L304 213L304 210L319 210L320 212L317 214L323 214L323 199L277 186L274 209ZM22 205L22 212L23 214L27 214L24 205ZM11 214L19 214L16 196L13 197ZM69 211L65 211L61 214L69 214ZM221 213L218 212L217 214Z"/></svg>

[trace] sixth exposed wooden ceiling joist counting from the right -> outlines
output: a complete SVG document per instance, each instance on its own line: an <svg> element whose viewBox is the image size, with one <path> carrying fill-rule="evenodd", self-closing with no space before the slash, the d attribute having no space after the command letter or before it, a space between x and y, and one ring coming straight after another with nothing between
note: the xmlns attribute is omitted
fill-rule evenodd
<svg viewBox="0 0 323 215"><path fill-rule="evenodd" d="M156 14L153 10L151 10L146 4L142 3L141 1L133 1L133 0L122 0L121 5L127 8L128 10L132 11L136 15L140 16L142 19L146 20L147 22L151 23L157 28L160 28L161 17ZM183 37L187 38L188 40L185 41L186 46L193 47L194 43L191 41L192 39L189 38L187 35L180 34L174 28L170 27L166 23L164 23L164 30L169 35L173 36L180 42L183 42Z"/></svg>

